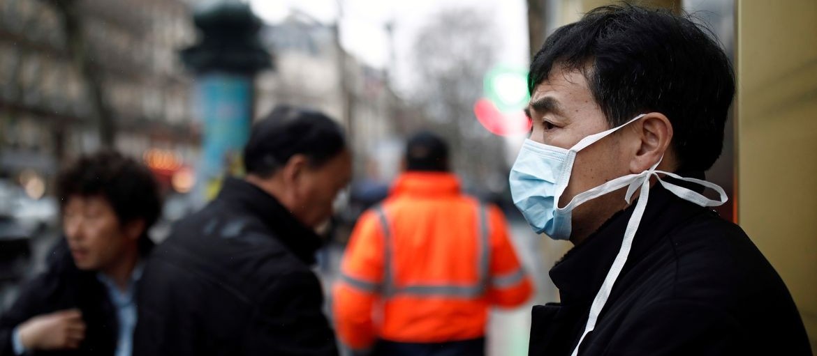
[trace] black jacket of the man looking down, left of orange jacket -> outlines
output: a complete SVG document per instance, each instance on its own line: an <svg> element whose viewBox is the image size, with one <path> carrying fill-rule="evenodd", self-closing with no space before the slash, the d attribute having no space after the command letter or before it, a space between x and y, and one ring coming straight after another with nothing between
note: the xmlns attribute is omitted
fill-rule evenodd
<svg viewBox="0 0 817 356"><path fill-rule="evenodd" d="M320 244L273 196L228 178L146 263L134 355L337 354L310 270Z"/></svg>

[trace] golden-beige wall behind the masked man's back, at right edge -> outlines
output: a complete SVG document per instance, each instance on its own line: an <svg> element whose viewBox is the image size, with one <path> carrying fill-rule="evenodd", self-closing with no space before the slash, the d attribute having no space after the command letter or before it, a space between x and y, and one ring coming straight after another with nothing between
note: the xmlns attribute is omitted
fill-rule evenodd
<svg viewBox="0 0 817 356"><path fill-rule="evenodd" d="M817 349L817 2L737 2L738 220Z"/></svg>

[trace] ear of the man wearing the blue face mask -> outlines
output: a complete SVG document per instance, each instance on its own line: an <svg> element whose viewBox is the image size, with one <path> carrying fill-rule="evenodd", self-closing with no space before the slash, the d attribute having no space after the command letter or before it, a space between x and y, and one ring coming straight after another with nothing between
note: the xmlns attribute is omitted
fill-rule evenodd
<svg viewBox="0 0 817 356"><path fill-rule="evenodd" d="M650 112L632 125L639 141L636 143L636 154L630 161L630 172L640 174L662 160L662 157L660 169L675 169L675 157L670 147L672 123L667 116L660 112Z"/></svg>

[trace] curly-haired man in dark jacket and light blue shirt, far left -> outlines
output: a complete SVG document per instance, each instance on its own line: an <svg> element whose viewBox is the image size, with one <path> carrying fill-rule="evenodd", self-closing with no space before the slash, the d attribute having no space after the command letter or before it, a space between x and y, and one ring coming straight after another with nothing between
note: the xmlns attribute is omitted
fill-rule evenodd
<svg viewBox="0 0 817 356"><path fill-rule="evenodd" d="M100 152L60 172L57 195L65 239L0 318L0 355L128 356L158 183L136 160Z"/></svg>

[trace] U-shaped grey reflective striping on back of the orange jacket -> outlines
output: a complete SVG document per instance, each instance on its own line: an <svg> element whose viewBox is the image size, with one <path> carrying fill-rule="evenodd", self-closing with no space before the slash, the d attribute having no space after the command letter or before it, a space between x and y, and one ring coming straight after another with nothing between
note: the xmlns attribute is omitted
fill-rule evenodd
<svg viewBox="0 0 817 356"><path fill-rule="evenodd" d="M392 235L389 226L389 219L386 217L386 211L383 210L382 205L375 207L374 212L380 219L380 226L383 229L383 297L390 298L396 294L408 294L413 296L423 297L482 297L484 296L489 280L490 280L490 262L491 262L491 245L490 245L490 226L488 221L488 209L485 204L480 203L477 214L477 244L479 244L479 257L476 259L476 268L478 273L478 280L473 285L458 286L458 285L408 285L400 288L395 288L394 283L394 266L391 263L391 255L394 252L392 249Z"/></svg>

